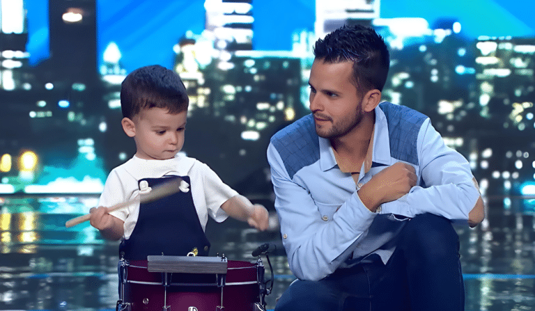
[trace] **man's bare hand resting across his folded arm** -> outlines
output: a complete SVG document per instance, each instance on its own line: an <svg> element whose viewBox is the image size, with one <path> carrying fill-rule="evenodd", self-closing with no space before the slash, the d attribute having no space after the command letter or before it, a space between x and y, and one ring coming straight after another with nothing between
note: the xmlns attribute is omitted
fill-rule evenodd
<svg viewBox="0 0 535 311"><path fill-rule="evenodd" d="M397 162L373 175L371 180L359 189L359 198L366 208L375 212L382 203L405 196L416 185L416 182L414 167Z"/></svg>

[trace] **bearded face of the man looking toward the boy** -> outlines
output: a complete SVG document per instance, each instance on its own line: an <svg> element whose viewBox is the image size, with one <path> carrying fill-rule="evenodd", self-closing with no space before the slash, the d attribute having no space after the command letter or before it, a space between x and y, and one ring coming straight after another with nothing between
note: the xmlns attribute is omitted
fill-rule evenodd
<svg viewBox="0 0 535 311"><path fill-rule="evenodd" d="M320 137L345 136L362 120L362 97L353 82L352 65L351 61L324 63L321 59L312 64L310 110Z"/></svg>

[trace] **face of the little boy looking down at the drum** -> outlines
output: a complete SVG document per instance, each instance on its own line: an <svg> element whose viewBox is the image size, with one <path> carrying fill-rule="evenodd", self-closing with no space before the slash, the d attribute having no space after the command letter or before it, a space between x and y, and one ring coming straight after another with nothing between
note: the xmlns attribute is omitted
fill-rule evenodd
<svg viewBox="0 0 535 311"><path fill-rule="evenodd" d="M134 120L123 119L123 129L136 142L136 156L141 159L165 160L175 157L184 145L187 111L171 114L167 109L141 111ZM125 125L125 122L132 122Z"/></svg>

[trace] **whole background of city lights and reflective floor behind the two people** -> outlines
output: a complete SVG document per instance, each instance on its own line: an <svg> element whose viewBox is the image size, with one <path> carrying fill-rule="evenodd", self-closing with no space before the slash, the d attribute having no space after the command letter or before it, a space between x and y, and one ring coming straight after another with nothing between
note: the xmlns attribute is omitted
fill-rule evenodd
<svg viewBox="0 0 535 311"><path fill-rule="evenodd" d="M267 143L309 113L313 31L370 24L352 13L379 1L217 1L24 0L24 12L22 0L0 0L0 309L114 310L116 244L89 223L64 224L98 204L109 170L135 152L118 97L142 65L173 68L185 82L183 151L272 216L268 232L209 222L212 250L249 260L259 244L280 243ZM481 225L458 229L467 310L535 301L533 6L383 0L373 23L391 47L383 99L428 115L488 202ZM240 13L225 15L228 7ZM294 278L284 254L272 262L270 308Z"/></svg>

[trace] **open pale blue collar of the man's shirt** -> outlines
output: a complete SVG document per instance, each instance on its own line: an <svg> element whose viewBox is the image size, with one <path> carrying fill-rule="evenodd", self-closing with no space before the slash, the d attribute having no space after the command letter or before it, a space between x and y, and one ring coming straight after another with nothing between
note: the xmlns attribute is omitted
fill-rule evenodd
<svg viewBox="0 0 535 311"><path fill-rule="evenodd" d="M318 137L320 143L320 169L324 172L337 166L336 158L331 147L329 139ZM375 125L373 129L373 143L370 142L371 161L378 164L389 165L390 158L390 141L388 135L388 124L385 113L382 112L379 105L375 107ZM370 152L370 150L368 150ZM366 159L369 159L368 154ZM368 164L371 166L371 163ZM366 172L369 170L366 166Z"/></svg>

